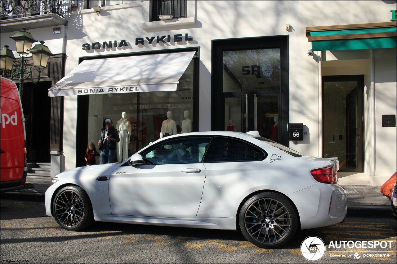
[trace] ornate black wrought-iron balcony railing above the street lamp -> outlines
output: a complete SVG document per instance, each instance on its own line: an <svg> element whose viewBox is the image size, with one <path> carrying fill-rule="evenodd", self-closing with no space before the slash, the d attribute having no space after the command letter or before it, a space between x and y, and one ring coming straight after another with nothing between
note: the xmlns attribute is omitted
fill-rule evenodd
<svg viewBox="0 0 397 264"><path fill-rule="evenodd" d="M45 15L54 13L60 17L65 17L67 8L62 0L46 1L12 1L0 0L1 19L12 19L20 17L29 17L33 15Z"/></svg>

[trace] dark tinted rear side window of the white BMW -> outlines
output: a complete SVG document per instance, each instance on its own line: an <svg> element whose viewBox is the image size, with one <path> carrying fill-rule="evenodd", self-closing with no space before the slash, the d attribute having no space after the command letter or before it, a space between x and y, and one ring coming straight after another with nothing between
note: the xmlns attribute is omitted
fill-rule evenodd
<svg viewBox="0 0 397 264"><path fill-rule="evenodd" d="M208 147L204 162L258 161L265 155L262 150L241 140L214 137Z"/></svg>

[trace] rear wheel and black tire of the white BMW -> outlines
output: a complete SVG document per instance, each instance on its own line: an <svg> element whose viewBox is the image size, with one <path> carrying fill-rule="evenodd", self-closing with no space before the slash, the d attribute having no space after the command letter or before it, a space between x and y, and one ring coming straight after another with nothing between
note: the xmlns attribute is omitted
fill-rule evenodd
<svg viewBox="0 0 397 264"><path fill-rule="evenodd" d="M299 217L293 204L275 192L253 195L239 212L241 232L248 241L263 249L275 249L288 243L298 225Z"/></svg>

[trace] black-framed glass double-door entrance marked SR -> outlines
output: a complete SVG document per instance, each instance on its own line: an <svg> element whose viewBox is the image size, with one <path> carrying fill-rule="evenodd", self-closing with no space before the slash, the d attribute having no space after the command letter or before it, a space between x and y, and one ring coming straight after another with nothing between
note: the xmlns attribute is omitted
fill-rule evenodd
<svg viewBox="0 0 397 264"><path fill-rule="evenodd" d="M212 130L255 130L289 146L288 38L214 40L212 47Z"/></svg>

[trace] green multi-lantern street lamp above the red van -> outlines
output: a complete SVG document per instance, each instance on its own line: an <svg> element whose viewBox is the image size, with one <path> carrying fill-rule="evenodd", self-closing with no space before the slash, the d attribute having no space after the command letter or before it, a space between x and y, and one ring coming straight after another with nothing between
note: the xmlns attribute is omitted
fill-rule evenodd
<svg viewBox="0 0 397 264"><path fill-rule="evenodd" d="M5 45L4 48L1 49L0 54L0 69L3 71L3 75L6 71L11 71L11 77L19 78L19 97L22 101L22 91L23 91L23 81L25 79L30 78L33 84L37 84L40 80L41 71L47 67L48 60L50 56L54 55L50 52L50 49L44 45L44 41L40 41L40 44L36 44L33 48L33 43L37 42L33 38L33 36L26 31L27 28L22 28L21 31L15 33L15 35L10 36L13 40L15 40L15 46L17 48L17 53L20 55L21 59L17 62L17 67L12 70L13 63L15 62L15 57L12 54L12 51L8 48L9 46ZM33 80L32 77L32 68L26 67L26 59L25 57L32 54L33 66L39 72L38 79Z"/></svg>

